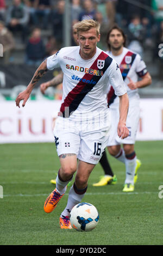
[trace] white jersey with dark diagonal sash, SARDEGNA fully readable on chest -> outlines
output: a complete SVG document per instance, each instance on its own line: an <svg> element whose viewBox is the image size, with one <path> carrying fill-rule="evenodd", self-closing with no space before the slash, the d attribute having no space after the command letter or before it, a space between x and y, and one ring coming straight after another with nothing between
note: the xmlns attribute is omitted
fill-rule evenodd
<svg viewBox="0 0 163 256"><path fill-rule="evenodd" d="M64 73L60 108L62 117L106 111L109 83L117 96L127 92L115 60L98 47L91 59L84 60L79 50L79 46L65 47L47 58L47 69L60 67Z"/></svg>

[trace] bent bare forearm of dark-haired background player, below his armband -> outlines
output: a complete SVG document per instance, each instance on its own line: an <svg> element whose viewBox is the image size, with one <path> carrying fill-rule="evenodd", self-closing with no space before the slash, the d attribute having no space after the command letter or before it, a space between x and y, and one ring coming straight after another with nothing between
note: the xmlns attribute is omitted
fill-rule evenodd
<svg viewBox="0 0 163 256"><path fill-rule="evenodd" d="M129 83L127 85L131 90L135 90L137 88L143 88L143 87L149 86L152 83L152 77L149 74L149 72L147 72L146 75L141 76L141 80L137 82L134 82L133 80L131 80L129 76L127 78L129 80Z"/></svg>

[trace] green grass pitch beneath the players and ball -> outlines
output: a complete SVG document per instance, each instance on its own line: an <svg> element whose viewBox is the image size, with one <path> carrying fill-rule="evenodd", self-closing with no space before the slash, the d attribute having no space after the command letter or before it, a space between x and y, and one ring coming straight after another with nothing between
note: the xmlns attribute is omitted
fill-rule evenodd
<svg viewBox="0 0 163 256"><path fill-rule="evenodd" d="M96 206L99 223L91 232L80 233L59 226L70 187L54 212L43 211L45 199L53 190L49 180L60 167L54 144L1 144L0 245L162 245L162 149L162 141L136 142L142 166L131 193L122 192L122 163L108 154L118 183L104 187L92 186L103 175L100 164L95 167L83 202Z"/></svg>

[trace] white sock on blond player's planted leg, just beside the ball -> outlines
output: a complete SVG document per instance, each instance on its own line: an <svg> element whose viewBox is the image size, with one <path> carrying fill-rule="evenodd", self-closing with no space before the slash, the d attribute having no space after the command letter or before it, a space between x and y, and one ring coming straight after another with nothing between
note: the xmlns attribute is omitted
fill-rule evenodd
<svg viewBox="0 0 163 256"><path fill-rule="evenodd" d="M86 188L84 188L82 194L78 194L76 193L76 191L74 191L74 187L76 187L76 185L72 185L72 187L70 188L66 208L61 213L61 215L63 216L70 216L70 212L73 206L75 206L76 204L79 204L86 193ZM82 190L80 191L82 192Z"/></svg>

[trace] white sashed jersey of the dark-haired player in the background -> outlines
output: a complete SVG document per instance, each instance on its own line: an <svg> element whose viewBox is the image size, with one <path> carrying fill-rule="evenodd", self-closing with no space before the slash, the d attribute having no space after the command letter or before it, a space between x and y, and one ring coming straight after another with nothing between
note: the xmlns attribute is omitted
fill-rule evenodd
<svg viewBox="0 0 163 256"><path fill-rule="evenodd" d="M118 56L112 55L112 53L109 51L106 53L108 53L111 58L115 59L116 63L119 65L123 80L126 84L129 99L131 99L131 97L139 99L138 89L131 90L127 86L129 83L127 76L130 77L133 82L137 82L139 77L142 77L147 73L146 64L141 59L141 56L133 51L130 51L126 47L123 47L123 52ZM117 105L118 97L116 97L114 88L112 87L111 83L108 92L108 105L113 107Z"/></svg>

